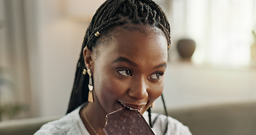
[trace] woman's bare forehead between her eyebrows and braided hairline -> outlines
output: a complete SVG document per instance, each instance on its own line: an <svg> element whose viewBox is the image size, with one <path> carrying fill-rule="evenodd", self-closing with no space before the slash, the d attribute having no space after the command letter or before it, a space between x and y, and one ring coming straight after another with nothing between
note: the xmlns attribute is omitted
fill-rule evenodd
<svg viewBox="0 0 256 135"><path fill-rule="evenodd" d="M111 39L102 41L96 48L96 55L101 53L104 57L117 57L125 55L128 57L142 57L143 55L152 57L167 57L168 42L163 34L159 34L157 29L127 30L119 27L112 31ZM146 52L146 53L145 53ZM148 55L147 53L150 53Z"/></svg>

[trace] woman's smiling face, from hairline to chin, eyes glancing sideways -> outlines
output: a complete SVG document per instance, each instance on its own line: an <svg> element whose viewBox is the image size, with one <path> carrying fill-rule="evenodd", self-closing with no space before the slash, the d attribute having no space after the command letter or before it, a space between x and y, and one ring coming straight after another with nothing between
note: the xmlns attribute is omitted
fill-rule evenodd
<svg viewBox="0 0 256 135"><path fill-rule="evenodd" d="M167 39L158 28L111 33L85 51L91 55L86 66L93 74L93 106L105 113L128 106L143 114L163 92Z"/></svg>

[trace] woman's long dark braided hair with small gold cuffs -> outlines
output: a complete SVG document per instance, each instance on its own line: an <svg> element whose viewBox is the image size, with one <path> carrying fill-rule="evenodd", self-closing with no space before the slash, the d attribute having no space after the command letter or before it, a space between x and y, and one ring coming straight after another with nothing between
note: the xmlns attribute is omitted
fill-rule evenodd
<svg viewBox="0 0 256 135"><path fill-rule="evenodd" d="M96 11L84 37L82 50L77 64L73 91L71 93L68 113L87 101L88 98L88 75L82 74L86 69L83 58L83 48L96 46L95 40L101 33L107 33L110 28L123 24L148 24L156 26L163 31L170 45L170 27L165 13L155 2L151 0L108 0ZM151 111L149 111L150 125ZM166 110L165 110L166 111Z"/></svg>

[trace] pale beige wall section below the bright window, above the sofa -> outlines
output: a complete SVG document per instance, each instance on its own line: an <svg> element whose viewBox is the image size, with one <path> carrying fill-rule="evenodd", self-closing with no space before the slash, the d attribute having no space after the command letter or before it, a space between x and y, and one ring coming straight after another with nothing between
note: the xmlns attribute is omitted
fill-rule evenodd
<svg viewBox="0 0 256 135"><path fill-rule="evenodd" d="M164 97L170 108L254 101L255 80L255 68L171 62L165 73Z"/></svg>

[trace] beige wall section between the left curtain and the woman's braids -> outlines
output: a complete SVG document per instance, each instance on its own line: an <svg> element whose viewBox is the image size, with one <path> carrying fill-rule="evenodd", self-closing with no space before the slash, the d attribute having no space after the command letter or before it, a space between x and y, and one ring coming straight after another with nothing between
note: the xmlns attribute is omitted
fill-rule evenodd
<svg viewBox="0 0 256 135"><path fill-rule="evenodd" d="M65 114L88 22L70 19L64 1L37 2L39 115Z"/></svg>

